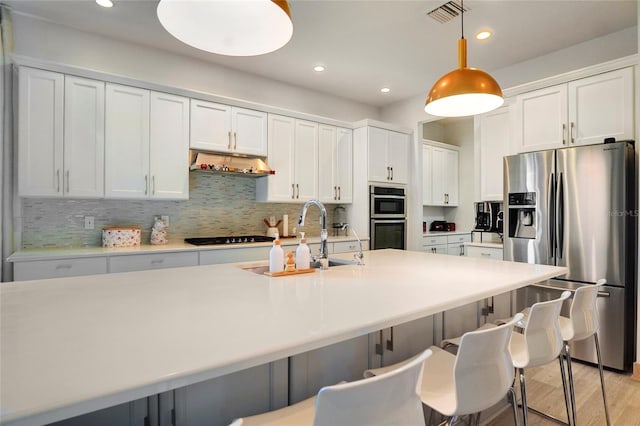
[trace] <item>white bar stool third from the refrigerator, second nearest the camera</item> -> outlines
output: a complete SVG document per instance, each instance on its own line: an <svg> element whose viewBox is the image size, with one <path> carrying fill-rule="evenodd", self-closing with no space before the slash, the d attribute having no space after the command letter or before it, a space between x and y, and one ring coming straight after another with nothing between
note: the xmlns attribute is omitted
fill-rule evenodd
<svg viewBox="0 0 640 426"><path fill-rule="evenodd" d="M460 338L457 355L432 346L433 355L424 361L422 402L449 417L450 425L465 415L470 415L477 425L483 410L510 394L514 422L518 424L509 339L514 324L521 319L522 314L518 314L504 325L465 333ZM406 362L366 370L364 374L365 377L385 374Z"/></svg>

